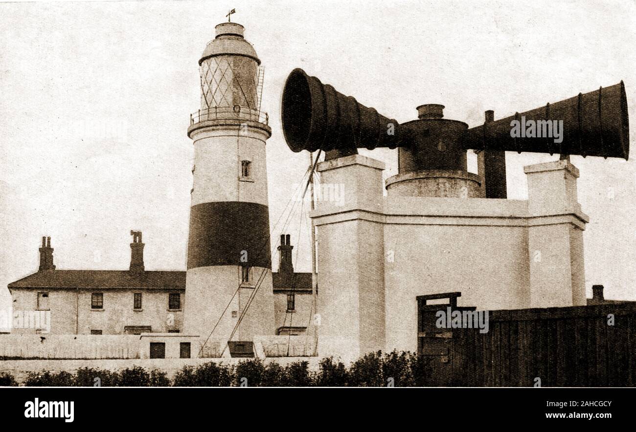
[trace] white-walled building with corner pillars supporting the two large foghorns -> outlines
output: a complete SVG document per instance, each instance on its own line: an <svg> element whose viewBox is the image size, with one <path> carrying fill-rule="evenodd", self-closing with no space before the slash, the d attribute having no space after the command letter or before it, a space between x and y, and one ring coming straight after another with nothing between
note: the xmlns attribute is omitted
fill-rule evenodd
<svg viewBox="0 0 636 432"><path fill-rule="evenodd" d="M462 292L481 310L584 304L577 170L527 166L529 199L382 196L379 161L318 166L344 191L312 212L318 241L319 356L417 349L417 295Z"/></svg>

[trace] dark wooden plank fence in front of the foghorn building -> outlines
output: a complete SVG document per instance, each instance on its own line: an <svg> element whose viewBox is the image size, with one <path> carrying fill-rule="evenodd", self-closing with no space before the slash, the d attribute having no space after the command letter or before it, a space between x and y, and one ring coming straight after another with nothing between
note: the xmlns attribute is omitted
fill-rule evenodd
<svg viewBox="0 0 636 432"><path fill-rule="evenodd" d="M438 328L439 310L474 311L457 307L459 295L418 297L418 353L429 356L434 384L635 386L636 302L489 311L487 333Z"/></svg>

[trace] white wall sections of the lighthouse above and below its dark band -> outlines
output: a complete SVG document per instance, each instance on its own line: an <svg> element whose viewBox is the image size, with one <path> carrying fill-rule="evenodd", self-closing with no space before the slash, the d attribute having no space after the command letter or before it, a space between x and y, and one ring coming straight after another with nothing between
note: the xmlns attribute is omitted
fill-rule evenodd
<svg viewBox="0 0 636 432"><path fill-rule="evenodd" d="M219 201L267 206L265 142L269 136L269 129L265 125L231 120L206 123L193 130L190 137L195 146L195 166L191 206ZM242 160L251 162L249 179L241 178ZM240 222L249 224L247 219ZM251 341L255 335L273 335L272 271L255 266L251 267L251 272L251 286L239 288L240 266L188 269L186 301L192 309L188 309L184 316L184 330L188 334L200 335L202 341L211 334L212 339L227 340L255 292L256 281L263 274L258 292L251 300L232 340ZM228 303L230 306L223 313ZM232 316L233 311L236 316Z"/></svg>

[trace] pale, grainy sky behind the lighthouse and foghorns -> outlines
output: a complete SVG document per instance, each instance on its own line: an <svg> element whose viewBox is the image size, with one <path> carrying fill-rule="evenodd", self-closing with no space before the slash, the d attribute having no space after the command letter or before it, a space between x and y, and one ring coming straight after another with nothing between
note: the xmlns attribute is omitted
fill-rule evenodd
<svg viewBox="0 0 636 432"><path fill-rule="evenodd" d="M469 126L487 109L504 118L622 79L636 121L633 1L0 3L0 308L6 285L38 269L41 236L58 269L127 269L131 229L146 269L185 269L197 61L232 8L265 67L272 225L308 165L280 128L295 67L399 122L437 103ZM361 153L397 173L395 151ZM523 166L555 159L508 152L508 198L527 198ZM590 216L588 297L601 283L606 298L636 300L635 163L571 160ZM299 210L286 232L296 269L310 271Z"/></svg>

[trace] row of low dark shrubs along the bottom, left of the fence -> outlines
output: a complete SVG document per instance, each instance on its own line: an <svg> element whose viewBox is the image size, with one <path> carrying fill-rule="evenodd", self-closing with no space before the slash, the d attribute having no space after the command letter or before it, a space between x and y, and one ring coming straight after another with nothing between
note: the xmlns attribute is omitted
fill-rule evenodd
<svg viewBox="0 0 636 432"><path fill-rule="evenodd" d="M319 370L309 369L308 361L294 361L280 365L277 361L246 359L237 365L209 361L184 366L170 381L166 372L146 370L140 366L118 372L80 368L69 372L30 372L25 386L82 386L82 387L411 387L429 386L431 368L428 358L408 352L369 353L347 368L342 361L323 358ZM0 386L15 386L11 375L0 374Z"/></svg>

